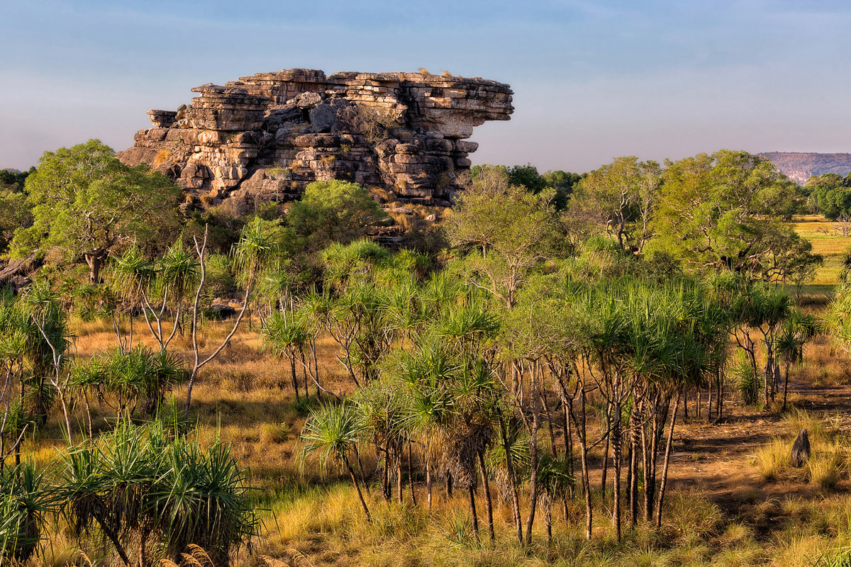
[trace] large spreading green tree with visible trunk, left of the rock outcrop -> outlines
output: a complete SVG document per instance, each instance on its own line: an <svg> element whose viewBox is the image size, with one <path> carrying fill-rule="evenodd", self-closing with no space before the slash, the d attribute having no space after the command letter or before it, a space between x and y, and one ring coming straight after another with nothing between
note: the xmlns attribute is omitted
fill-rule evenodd
<svg viewBox="0 0 851 567"><path fill-rule="evenodd" d="M67 262L82 258L89 280L111 250L125 241L161 237L176 219L180 189L148 167L125 166L100 140L47 151L26 179L33 224L16 230L14 255L60 252Z"/></svg>

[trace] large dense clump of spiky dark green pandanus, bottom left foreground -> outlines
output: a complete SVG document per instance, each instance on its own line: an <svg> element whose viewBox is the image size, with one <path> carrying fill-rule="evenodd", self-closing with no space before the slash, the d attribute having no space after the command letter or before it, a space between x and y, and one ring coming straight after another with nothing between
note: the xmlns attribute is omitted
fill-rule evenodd
<svg viewBox="0 0 851 567"><path fill-rule="evenodd" d="M143 565L178 559L191 543L228 564L257 534L245 473L220 443L203 451L160 426L125 423L71 447L59 477L71 531L83 537L97 528L124 557L137 547Z"/></svg>

